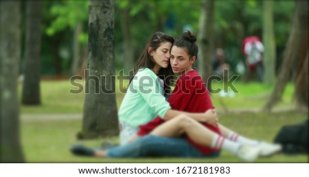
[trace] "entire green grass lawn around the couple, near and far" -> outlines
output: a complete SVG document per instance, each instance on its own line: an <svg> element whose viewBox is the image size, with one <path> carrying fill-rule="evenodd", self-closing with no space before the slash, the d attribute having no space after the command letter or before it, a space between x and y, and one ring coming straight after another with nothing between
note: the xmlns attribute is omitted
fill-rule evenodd
<svg viewBox="0 0 309 177"><path fill-rule="evenodd" d="M126 86L126 84L124 84ZM220 83L216 85L220 87ZM122 102L124 93L119 91L117 83L117 106ZM220 97L212 94L212 100L218 110L227 108L261 108L271 94L271 87L258 83L236 83L239 93L234 97ZM233 155L222 152L219 158L124 158L99 159L73 156L69 147L74 143L84 143L97 147L104 140L118 142L117 137L78 141L76 133L82 127L82 108L84 93L71 94L69 81L44 81L41 83L42 106L21 106L23 115L42 115L41 119L22 119L21 141L27 163L238 163ZM293 107L293 84L288 84L282 102L277 108ZM45 115L80 114L80 119L44 119ZM284 126L299 123L308 118L307 113L296 110L284 110L276 113L229 113L219 114L220 122L247 137L273 141L275 134ZM258 163L307 163L306 155L287 156L277 154L271 158L260 158Z"/></svg>

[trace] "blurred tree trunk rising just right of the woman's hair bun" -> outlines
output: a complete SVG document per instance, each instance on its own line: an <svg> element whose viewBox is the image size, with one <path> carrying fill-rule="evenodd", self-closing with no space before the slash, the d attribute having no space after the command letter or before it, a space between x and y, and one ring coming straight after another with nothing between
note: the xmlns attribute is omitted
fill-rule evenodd
<svg viewBox="0 0 309 177"><path fill-rule="evenodd" d="M203 0L198 28L198 71L210 91L212 54L214 51L214 0Z"/></svg>

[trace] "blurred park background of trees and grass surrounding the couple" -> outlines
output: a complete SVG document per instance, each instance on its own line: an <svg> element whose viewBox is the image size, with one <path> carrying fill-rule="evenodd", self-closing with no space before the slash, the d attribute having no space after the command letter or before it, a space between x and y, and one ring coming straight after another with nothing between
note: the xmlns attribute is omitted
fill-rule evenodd
<svg viewBox="0 0 309 177"><path fill-rule="evenodd" d="M0 8L3 162L238 162L226 152L215 159L98 159L69 152L75 143L118 143L123 88L157 31L197 34L197 67L206 83L216 48L224 49L230 75L240 77L233 97L211 93L222 124L272 142L282 126L308 119L308 1L1 1ZM242 40L253 35L265 47L262 83L242 71ZM85 69L98 82L89 82ZM277 154L258 162L306 163L308 157Z"/></svg>

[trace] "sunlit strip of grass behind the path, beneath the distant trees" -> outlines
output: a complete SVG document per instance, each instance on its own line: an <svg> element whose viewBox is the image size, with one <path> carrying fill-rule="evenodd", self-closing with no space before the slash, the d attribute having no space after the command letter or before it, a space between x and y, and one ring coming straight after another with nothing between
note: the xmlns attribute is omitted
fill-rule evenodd
<svg viewBox="0 0 309 177"><path fill-rule="evenodd" d="M84 80L79 81L84 88ZM128 86L128 81L119 84L116 80L116 99L119 108L124 97L124 88ZM211 100L214 106L220 110L222 108L262 108L268 97L271 95L273 86L264 86L257 82L248 84L242 82L233 83L238 93L234 93L233 97L221 97L220 93L212 93ZM214 82L213 89L224 88L220 82ZM79 88L73 86L69 80L61 81L43 81L41 82L41 106L21 106L21 113L82 113L84 105L85 89L81 93L70 93L77 91ZM20 89L21 90L21 86ZM294 86L289 83L286 86L282 101L275 107L293 107L293 91ZM231 88L229 89L231 93Z"/></svg>

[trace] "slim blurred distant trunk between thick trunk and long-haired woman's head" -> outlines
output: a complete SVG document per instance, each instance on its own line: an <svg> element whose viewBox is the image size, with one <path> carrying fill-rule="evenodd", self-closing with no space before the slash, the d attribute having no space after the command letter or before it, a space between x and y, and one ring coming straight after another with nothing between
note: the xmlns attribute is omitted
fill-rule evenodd
<svg viewBox="0 0 309 177"><path fill-rule="evenodd" d="M124 73L129 74L129 71L134 66L134 47L132 43L130 30L130 8L126 7L122 11L122 34L124 35ZM132 75L131 75L132 76Z"/></svg>

